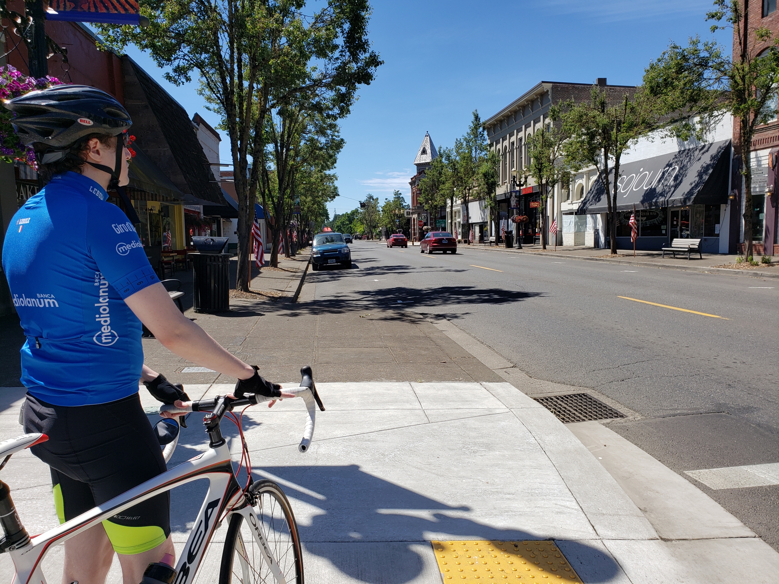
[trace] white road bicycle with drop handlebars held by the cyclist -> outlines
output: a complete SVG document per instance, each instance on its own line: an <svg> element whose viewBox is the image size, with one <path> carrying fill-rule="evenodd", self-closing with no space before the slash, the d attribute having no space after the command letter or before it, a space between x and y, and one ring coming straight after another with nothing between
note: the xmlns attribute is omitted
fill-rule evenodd
<svg viewBox="0 0 779 584"><path fill-rule="evenodd" d="M301 396L305 402L305 430L298 450L307 452L314 434L316 407L325 409L316 392L311 368L301 368L300 387L284 391ZM213 533L227 519L227 537L222 551L219 584L303 584L301 543L292 508L284 491L272 480L255 482L252 479L249 448L241 427L243 410L238 416L232 413L234 408L244 407L245 410L246 407L271 399L257 395L234 398L217 396L214 399L189 402L184 408L160 406L160 413L167 411L183 415L189 412L207 412L203 425L209 437L209 449L41 535L30 537L27 534L13 505L9 486L0 481L0 526L4 533L4 537L0 539L0 553L9 553L11 556L16 569L13 584L46 584L41 562L55 544L60 544L154 495L202 478L209 480L206 498L192 524L194 527L189 533L184 551L178 558L175 578L171 582L188 584L195 579ZM238 435L241 438L241 461L238 470L233 469L230 449L220 428L221 420L226 415L238 426ZM161 427L161 431L157 433L165 436L164 440L160 439L160 445L164 445L163 454L167 463L178 444L179 424L172 418L164 418L157 425L159 424L167 426ZM0 463L0 470L14 452L46 440L48 437L45 434L24 434L0 443L0 458L5 457ZM245 486L241 487L238 484L238 472L244 465L247 481Z"/></svg>

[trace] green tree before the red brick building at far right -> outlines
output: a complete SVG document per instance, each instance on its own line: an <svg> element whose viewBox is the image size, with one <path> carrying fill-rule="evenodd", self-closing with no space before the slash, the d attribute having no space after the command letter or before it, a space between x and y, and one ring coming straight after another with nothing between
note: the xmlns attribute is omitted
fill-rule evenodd
<svg viewBox="0 0 779 584"><path fill-rule="evenodd" d="M668 115L666 128L682 139L700 138L727 114L736 118L735 146L741 155L745 187L744 243L749 256L753 253L752 139L759 125L777 117L779 37L764 27L745 30L738 0L716 0L714 8L707 13L707 20L714 22L711 31L732 30L737 47L731 52L729 46L700 37L689 39L686 47L671 43L647 67L643 85ZM760 47L770 44L757 53L749 46L752 36Z"/></svg>

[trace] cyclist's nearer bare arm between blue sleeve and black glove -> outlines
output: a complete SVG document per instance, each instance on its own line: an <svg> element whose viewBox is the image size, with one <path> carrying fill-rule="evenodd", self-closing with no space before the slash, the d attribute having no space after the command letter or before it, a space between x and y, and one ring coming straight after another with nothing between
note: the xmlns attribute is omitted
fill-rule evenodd
<svg viewBox="0 0 779 584"><path fill-rule="evenodd" d="M250 365L224 350L206 331L182 315L162 284L139 290L125 298L125 303L157 340L179 357L238 379L254 375Z"/></svg>

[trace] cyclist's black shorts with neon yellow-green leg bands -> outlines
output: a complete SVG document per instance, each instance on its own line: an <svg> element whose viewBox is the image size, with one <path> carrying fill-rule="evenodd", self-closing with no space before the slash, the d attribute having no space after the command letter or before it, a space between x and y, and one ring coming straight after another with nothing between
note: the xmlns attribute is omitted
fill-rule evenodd
<svg viewBox="0 0 779 584"><path fill-rule="evenodd" d="M138 394L90 406L53 406L28 393L24 431L48 441L32 452L51 467L60 523L137 487L166 470L162 450ZM171 534L170 492L103 522L119 554L140 554Z"/></svg>

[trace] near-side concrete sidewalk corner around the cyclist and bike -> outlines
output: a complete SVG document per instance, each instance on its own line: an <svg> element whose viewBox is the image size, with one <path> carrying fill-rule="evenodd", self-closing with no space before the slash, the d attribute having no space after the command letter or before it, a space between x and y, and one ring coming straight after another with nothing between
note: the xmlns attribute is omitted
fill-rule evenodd
<svg viewBox="0 0 779 584"><path fill-rule="evenodd" d="M301 267L252 280L252 289L284 296L234 299L224 315L187 314L268 378L297 386L301 365L314 368L327 409L305 455L297 449L300 400L245 413L255 476L277 480L291 499L308 582L439 584L430 540L483 539L555 540L580 576L566 582L775 581L776 551L607 426L562 424L525 393L543 382L452 322L390 310L373 297L315 300L314 278L291 304L287 293ZM234 380L215 373L183 373L190 364L155 339L145 339L144 350L193 399L232 389ZM555 385L556 392L573 389ZM0 392L2 439L20 433L23 393ZM146 389L140 395L145 406L157 405ZM223 431L238 452L230 426ZM171 464L205 448L198 414L191 414ZM3 475L30 533L55 526L42 463L25 451ZM204 493L198 481L171 495L179 552ZM201 582L216 578L225 530L210 547ZM51 582L61 563L57 547L44 566ZM121 582L117 568L109 582ZM9 577L9 569L0 556L0 574Z"/></svg>

